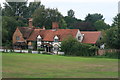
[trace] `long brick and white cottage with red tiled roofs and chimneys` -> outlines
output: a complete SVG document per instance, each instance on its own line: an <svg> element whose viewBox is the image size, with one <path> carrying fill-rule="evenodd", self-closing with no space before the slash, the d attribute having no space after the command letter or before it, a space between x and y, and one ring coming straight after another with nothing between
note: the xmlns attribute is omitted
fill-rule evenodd
<svg viewBox="0 0 120 80"><path fill-rule="evenodd" d="M57 22L52 23L52 29L46 30L34 27L32 19L29 19L28 27L17 27L13 34L14 48L28 48L36 47L44 48L47 52L57 53L60 50L61 41L69 35L76 38L79 42L96 44L101 37L100 31L80 31L79 29L59 29Z"/></svg>

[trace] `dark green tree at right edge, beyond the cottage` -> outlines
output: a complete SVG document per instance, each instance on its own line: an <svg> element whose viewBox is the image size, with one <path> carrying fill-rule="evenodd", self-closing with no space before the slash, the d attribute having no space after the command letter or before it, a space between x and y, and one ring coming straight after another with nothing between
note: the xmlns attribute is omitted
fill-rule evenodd
<svg viewBox="0 0 120 80"><path fill-rule="evenodd" d="M120 14L113 18L113 24L106 31L105 42L108 47L120 49Z"/></svg>

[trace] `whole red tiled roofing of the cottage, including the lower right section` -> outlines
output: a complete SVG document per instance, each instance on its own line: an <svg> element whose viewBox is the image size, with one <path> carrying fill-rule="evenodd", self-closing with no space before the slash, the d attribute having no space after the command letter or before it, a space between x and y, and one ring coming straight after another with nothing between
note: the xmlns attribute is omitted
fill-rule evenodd
<svg viewBox="0 0 120 80"><path fill-rule="evenodd" d="M44 30L40 28L18 27L23 37L29 41L36 41L38 35L42 37L43 41L54 41L54 37L58 36L59 41L62 41L68 35L76 37L79 29L57 29ZM101 36L100 31L81 31L84 34L82 43L95 44Z"/></svg>

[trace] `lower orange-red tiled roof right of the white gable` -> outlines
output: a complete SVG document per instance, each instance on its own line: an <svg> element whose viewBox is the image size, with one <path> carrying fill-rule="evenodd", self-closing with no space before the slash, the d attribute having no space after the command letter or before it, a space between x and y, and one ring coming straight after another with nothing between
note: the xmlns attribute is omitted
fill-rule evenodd
<svg viewBox="0 0 120 80"><path fill-rule="evenodd" d="M101 36L100 31L81 31L81 34L84 34L82 43L90 44L95 44Z"/></svg>

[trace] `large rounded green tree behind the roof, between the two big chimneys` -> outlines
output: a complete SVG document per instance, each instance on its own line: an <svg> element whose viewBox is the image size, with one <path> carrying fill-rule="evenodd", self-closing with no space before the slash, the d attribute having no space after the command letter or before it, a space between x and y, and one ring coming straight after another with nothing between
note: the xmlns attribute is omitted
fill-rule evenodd
<svg viewBox="0 0 120 80"><path fill-rule="evenodd" d="M52 28L52 22L65 23L62 19L63 16L57 9L45 9L44 7L38 8L33 14L33 24L38 27L45 26L47 29Z"/></svg>

